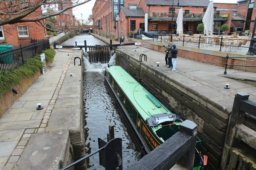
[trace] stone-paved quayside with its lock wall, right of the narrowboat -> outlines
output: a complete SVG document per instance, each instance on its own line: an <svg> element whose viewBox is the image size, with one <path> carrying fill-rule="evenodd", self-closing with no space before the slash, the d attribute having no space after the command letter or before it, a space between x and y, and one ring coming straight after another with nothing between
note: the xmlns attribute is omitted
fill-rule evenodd
<svg viewBox="0 0 256 170"><path fill-rule="evenodd" d="M164 53L139 46L123 46L116 51L117 65L141 81L171 111L198 125L199 137L203 140L202 153L208 156L207 166L219 169L234 96L244 91L256 101L256 87L222 77L224 68L218 66L178 57L177 70L171 71L164 66ZM141 54L147 56L147 61L144 57L139 61ZM156 62L160 62L159 67ZM225 89L226 84L230 84L232 90Z"/></svg>

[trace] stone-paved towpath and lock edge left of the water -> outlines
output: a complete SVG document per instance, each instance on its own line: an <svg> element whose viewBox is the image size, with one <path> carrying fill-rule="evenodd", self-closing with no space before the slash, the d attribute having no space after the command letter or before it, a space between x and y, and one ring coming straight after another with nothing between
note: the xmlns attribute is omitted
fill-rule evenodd
<svg viewBox="0 0 256 170"><path fill-rule="evenodd" d="M83 66L78 59L74 65L83 52L56 52L46 73L0 119L0 169L60 169L85 155Z"/></svg>

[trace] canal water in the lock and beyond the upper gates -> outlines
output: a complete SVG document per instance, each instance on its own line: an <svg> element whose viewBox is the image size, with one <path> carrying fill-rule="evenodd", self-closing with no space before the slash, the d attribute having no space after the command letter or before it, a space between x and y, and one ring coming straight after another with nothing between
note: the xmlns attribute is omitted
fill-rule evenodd
<svg viewBox="0 0 256 170"><path fill-rule="evenodd" d="M96 39L90 34L82 34L65 41L61 45L83 45L84 40L87 45L105 45L104 42ZM81 44L79 44L81 43ZM114 56L111 58L114 63ZM108 63L90 63L84 57L85 72L83 75L84 92L84 114L85 114L85 149L86 154L90 154L99 149L98 138L105 139L108 133L108 126L114 125L115 137L122 139L122 160L123 169L134 164L141 158L140 151L136 149L124 120L113 103L110 94L104 84L104 72ZM105 139L107 141L107 139ZM88 170L104 170L99 165L99 154L95 154L87 159Z"/></svg>

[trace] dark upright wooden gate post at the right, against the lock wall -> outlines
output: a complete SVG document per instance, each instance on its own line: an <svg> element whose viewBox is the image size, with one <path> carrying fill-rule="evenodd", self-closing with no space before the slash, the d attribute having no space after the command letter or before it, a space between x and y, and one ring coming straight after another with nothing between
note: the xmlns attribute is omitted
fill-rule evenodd
<svg viewBox="0 0 256 170"><path fill-rule="evenodd" d="M227 135L225 139L224 149L223 149L223 155L221 159L221 168L224 170L227 167L227 159L230 154L230 147L232 146L233 140L234 140L234 133L236 130L236 124L243 123L244 122L244 116L245 112L240 110L240 105L243 100L249 99L249 94L246 94L244 92L239 92L236 94L232 112L230 115L230 120L227 127Z"/></svg>

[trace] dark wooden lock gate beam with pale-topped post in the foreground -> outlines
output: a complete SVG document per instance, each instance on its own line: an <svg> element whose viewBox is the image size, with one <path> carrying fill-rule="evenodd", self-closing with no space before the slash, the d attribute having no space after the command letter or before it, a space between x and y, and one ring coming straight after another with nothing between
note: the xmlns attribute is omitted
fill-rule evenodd
<svg viewBox="0 0 256 170"><path fill-rule="evenodd" d="M169 170L183 156L188 159L184 161L186 169L192 170L197 130L194 122L185 120L180 124L180 132L175 133L127 170Z"/></svg>

